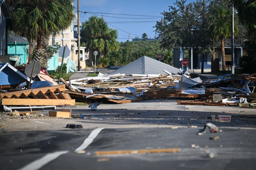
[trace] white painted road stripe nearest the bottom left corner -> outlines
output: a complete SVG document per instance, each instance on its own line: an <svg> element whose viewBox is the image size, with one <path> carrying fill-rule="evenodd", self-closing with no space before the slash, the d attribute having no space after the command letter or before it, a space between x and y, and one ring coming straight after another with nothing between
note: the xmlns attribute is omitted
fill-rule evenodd
<svg viewBox="0 0 256 170"><path fill-rule="evenodd" d="M31 162L30 164L24 166L21 169L18 170L37 170L39 168L41 168L42 166L44 166L45 164L47 164L50 161L53 161L54 159L58 158L60 155L66 154L69 151L58 151L58 152L54 152L54 153L49 153L47 155L45 155L44 157L35 160L33 162Z"/></svg>

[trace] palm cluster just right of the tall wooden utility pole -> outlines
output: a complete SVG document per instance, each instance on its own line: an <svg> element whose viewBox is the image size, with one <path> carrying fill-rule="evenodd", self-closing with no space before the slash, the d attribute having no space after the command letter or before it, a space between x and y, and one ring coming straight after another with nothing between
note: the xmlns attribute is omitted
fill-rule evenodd
<svg viewBox="0 0 256 170"><path fill-rule="evenodd" d="M88 21L83 23L81 29L81 42L86 44L89 49L89 56L93 59L93 51L98 51L97 59L103 57L109 51L119 48L117 42L117 30L108 27L107 23L97 16L91 16Z"/></svg>

